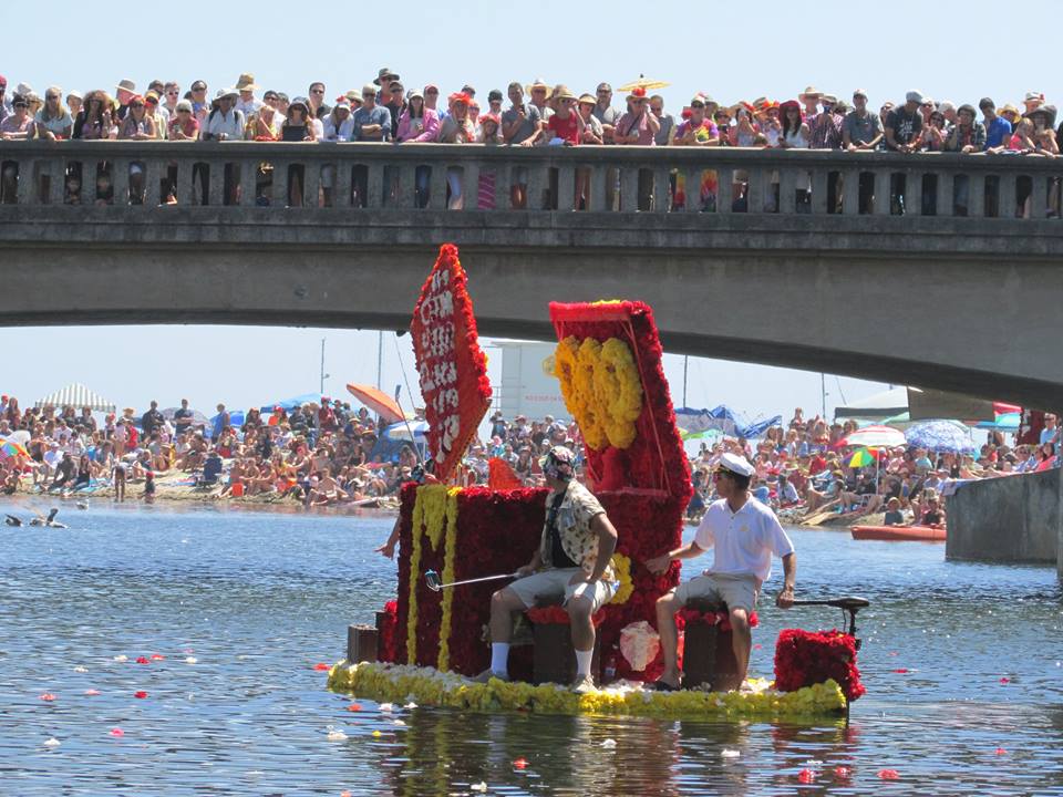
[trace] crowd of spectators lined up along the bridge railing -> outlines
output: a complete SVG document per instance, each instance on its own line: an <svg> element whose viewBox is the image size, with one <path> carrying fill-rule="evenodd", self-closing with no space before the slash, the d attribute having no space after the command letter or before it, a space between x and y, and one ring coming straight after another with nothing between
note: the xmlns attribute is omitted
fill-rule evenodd
<svg viewBox="0 0 1063 797"><path fill-rule="evenodd" d="M549 85L543 80L530 84L509 83L505 91L492 89L481 100L476 89L466 84L448 94L429 83L423 87L406 86L389 68L379 70L372 82L361 89L337 94L326 84L314 82L306 95L289 96L272 89L261 91L251 74L241 74L231 87L213 92L197 80L184 91L175 81L153 80L141 89L124 79L113 91L63 91L49 86L39 93L27 83L8 92L7 79L0 76L0 136L6 141L42 139L132 139L132 141L258 141L258 142L393 142L396 144L445 143L510 146L725 146L780 149L891 151L902 154L954 152L987 155L1029 155L1054 158L1060 154L1063 124L1055 128L1056 108L1045 102L1039 91L1025 92L1021 101L998 104L991 97L974 103L935 100L918 90L904 97L887 100L877 110L866 91L857 89L848 96L833 95L815 86L806 86L796 99L756 97L735 103L716 101L708 92L699 92L681 108L670 111L661 94L633 86L615 95L609 83L599 83L591 92L574 92L564 84ZM295 170L291 170L295 169ZM289 172L289 204L313 203L305 198L301 167ZM143 201L143 167L131 167L131 201ZM205 175L205 172L203 173ZM4 167L2 200L14 201L17 169ZM270 201L269 175L260 175L256 200ZM80 201L81 186L89 178L68 174L64 196ZM204 177L205 179L205 177ZM452 208L466 201L479 208L494 207L492 176L481 175L477 196L463 196L463 186L455 170L447 170L447 203ZM702 176L699 199L703 209L711 209L716 197L716 174ZM773 178L775 179L775 178ZM317 201L331 204L334 174L322 170ZM575 207L589 201L589 174L577 170ZM842 201L839 176L833 175L827 186L828 211ZM96 201L113 200L113 176L96 175ZM775 183L777 186L777 182ZM266 186L264 190L262 187ZM735 210L745 209L745 182L742 173L734 176L732 203ZM514 207L526 207L526 183L512 187ZM610 186L611 188L611 186ZM642 178L639 207L650 201L652 182ZM176 201L177 187L171 182L161 197ZM235 201L240 190L234 175L226 176L226 201ZM355 200L364 201L365 186L352 188ZM798 180L798 211L809 205L812 186ZM860 178L861 213L869 211L874 180ZM926 188L922 189L926 192ZM957 188L957 213L967 211L966 188ZM204 200L206 183L204 183ZM615 192L610 190L612 195ZM684 206L687 189L683 175L670 185L672 207ZM692 192L691 192L692 193ZM906 196L907 194L907 196ZM894 213L905 213L918 192L894 185L890 201ZM1045 208L1035 213L1059 214L1057 186L1053 183L1044 198ZM1031 198L1020 187L1015 213L1030 215ZM424 206L429 196L429 176L419 168L416 197ZM936 197L919 197L922 206ZM607 201L611 197L607 197ZM1034 198L1041 201L1040 198ZM532 198L532 201L537 201ZM556 198L554 199L556 201ZM777 199L776 199L777 201Z"/></svg>

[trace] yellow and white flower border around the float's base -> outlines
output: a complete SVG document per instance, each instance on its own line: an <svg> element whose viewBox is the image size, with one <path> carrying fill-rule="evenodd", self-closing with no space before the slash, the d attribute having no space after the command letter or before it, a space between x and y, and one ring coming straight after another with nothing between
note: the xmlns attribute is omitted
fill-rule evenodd
<svg viewBox="0 0 1063 797"><path fill-rule="evenodd" d="M653 692L621 683L588 694L558 684L534 686L492 679L473 683L455 673L405 664L340 662L329 671L329 689L375 701L413 700L421 705L472 711L530 711L544 714L622 714L700 720L787 720L823 722L845 712L845 695L835 681L776 692L764 679L752 692Z"/></svg>

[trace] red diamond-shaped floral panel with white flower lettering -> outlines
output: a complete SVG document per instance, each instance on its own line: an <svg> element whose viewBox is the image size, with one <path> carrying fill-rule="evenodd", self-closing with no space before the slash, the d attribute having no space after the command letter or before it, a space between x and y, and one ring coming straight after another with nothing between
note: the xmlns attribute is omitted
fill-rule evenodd
<svg viewBox="0 0 1063 797"><path fill-rule="evenodd" d="M457 247L444 244L421 288L410 331L421 376L429 449L445 480L491 405L487 358L479 348L473 300Z"/></svg>

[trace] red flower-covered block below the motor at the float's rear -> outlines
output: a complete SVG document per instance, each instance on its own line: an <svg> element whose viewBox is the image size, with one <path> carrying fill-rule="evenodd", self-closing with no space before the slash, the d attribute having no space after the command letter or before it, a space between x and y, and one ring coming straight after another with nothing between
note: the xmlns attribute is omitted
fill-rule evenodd
<svg viewBox="0 0 1063 797"><path fill-rule="evenodd" d="M856 642L840 631L786 629L775 645L775 687L795 692L834 679L849 701L865 692L856 667Z"/></svg>

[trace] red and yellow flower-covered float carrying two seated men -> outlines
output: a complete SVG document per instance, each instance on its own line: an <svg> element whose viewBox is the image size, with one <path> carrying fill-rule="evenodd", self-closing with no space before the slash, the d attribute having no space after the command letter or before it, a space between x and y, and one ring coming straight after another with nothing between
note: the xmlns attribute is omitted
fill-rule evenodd
<svg viewBox="0 0 1063 797"><path fill-rule="evenodd" d="M375 629L360 632L372 636L368 654L349 644L350 661L331 667L329 687L476 711L763 720L847 713L864 692L852 607L844 607L854 621L849 633L784 631L774 683L754 679L751 691L741 692L708 691L708 681L704 690L649 689L662 669L654 607L679 583L680 565L656 576L644 562L681 545L692 494L657 325L652 310L638 301L555 302L549 314L558 339L553 369L582 436L587 485L618 535L612 566L619 587L592 618L601 687L575 694L551 682L564 680L556 676L556 660L572 658L570 648L560 656L536 650L547 639L567 642L568 614L558 605L525 612L535 641L514 646L512 682L469 679L488 664L496 573L513 573L538 546L547 491L448 484L491 403L467 279L453 245L441 247L411 324L438 483L402 487L398 596L378 612ZM726 613L688 608L677 619L688 639L695 627L712 631L714 664L725 669L732 655ZM553 669L544 659L555 660Z"/></svg>

